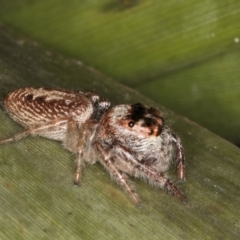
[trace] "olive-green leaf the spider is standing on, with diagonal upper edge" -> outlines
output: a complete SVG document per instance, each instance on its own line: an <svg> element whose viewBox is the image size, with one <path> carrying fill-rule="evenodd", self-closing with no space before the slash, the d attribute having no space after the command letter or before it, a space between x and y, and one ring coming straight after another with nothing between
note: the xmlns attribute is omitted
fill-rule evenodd
<svg viewBox="0 0 240 240"><path fill-rule="evenodd" d="M1 239L238 239L240 150L204 128L126 88L75 59L0 26L0 98L19 87L90 89L113 104L142 102L160 109L181 137L188 196L182 204L132 179L143 206L136 208L106 173L86 166L72 184L73 156L58 142L26 138L0 146ZM0 112L0 137L21 127ZM170 172L172 179L175 174Z"/></svg>

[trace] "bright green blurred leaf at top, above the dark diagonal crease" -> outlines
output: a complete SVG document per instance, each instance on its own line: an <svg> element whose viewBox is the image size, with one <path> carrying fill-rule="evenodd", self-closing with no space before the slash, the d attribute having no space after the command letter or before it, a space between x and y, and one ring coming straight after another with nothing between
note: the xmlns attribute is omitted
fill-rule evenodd
<svg viewBox="0 0 240 240"><path fill-rule="evenodd" d="M239 38L238 0L2 2L4 22L128 84L196 64Z"/></svg>

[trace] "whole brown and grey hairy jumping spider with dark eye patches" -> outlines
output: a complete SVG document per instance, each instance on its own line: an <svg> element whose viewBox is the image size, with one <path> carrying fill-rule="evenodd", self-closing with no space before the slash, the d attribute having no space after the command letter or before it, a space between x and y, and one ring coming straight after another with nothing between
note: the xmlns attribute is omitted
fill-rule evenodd
<svg viewBox="0 0 240 240"><path fill-rule="evenodd" d="M110 107L109 101L90 91L47 88L18 89L3 105L25 130L0 144L28 135L63 142L76 155L75 184L81 181L84 162L98 160L137 206L140 199L127 175L185 200L164 173L174 159L178 178L185 179L182 144L158 110L140 103Z"/></svg>

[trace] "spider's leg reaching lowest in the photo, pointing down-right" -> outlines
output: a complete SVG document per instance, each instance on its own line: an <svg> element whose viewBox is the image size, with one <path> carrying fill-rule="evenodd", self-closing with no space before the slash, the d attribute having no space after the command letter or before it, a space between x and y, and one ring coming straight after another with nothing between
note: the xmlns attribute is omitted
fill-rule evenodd
<svg viewBox="0 0 240 240"><path fill-rule="evenodd" d="M94 143L94 148L100 157L99 161L108 170L111 177L123 188L133 203L137 207L141 207L141 201L134 191L133 186L128 181L127 175L115 165L116 159L113 158L111 149L106 150L99 142Z"/></svg>

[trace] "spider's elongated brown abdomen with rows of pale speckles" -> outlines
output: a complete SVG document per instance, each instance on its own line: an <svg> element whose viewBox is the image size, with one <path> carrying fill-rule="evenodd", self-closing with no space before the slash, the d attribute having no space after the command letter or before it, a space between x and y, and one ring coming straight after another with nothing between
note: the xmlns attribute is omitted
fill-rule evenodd
<svg viewBox="0 0 240 240"><path fill-rule="evenodd" d="M66 118L81 124L94 111L91 101L81 93L47 88L11 92L4 100L4 107L16 122L27 128Z"/></svg>

